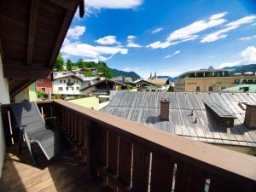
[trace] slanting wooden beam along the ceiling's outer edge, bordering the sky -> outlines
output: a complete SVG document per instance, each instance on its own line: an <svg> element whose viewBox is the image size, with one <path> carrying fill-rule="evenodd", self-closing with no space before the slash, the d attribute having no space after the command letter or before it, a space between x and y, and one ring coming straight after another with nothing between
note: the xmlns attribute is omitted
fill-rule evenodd
<svg viewBox="0 0 256 192"><path fill-rule="evenodd" d="M78 8L78 4L75 5L75 7L73 8L73 11L67 10L67 12L66 12L66 15L62 22L61 30L60 30L60 32L58 34L58 38L55 42L55 48L53 49L52 55L50 56L49 67L54 67L54 65L55 65L56 57L60 52L61 45L64 41L64 38L66 37L67 30L72 22L73 16L75 15L77 8Z"/></svg>

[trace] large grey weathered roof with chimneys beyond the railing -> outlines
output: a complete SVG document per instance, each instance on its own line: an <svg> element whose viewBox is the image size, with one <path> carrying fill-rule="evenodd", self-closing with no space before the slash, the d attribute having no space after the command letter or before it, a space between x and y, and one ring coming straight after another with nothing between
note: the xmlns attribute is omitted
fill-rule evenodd
<svg viewBox="0 0 256 192"><path fill-rule="evenodd" d="M256 147L256 130L248 130L243 124L245 108L240 104L255 104L256 94L166 93L171 101L169 121L161 121L159 117L163 96L163 92L117 91L102 111L201 142ZM216 125L205 102L213 102L234 114L234 127ZM191 110L194 110L193 116L190 116Z"/></svg>

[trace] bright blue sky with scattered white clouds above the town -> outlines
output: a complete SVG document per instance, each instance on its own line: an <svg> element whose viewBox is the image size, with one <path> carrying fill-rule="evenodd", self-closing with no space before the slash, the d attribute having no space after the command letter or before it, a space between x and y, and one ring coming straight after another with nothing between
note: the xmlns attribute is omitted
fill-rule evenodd
<svg viewBox="0 0 256 192"><path fill-rule="evenodd" d="M61 47L64 59L177 75L256 63L254 0L84 0Z"/></svg>

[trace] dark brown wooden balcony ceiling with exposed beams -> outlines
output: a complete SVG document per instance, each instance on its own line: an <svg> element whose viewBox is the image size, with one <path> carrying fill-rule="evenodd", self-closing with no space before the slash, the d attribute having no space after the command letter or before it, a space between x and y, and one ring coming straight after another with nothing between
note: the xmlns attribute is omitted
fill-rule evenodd
<svg viewBox="0 0 256 192"><path fill-rule="evenodd" d="M79 5L83 16L83 0L0 2L0 53L11 97L52 72Z"/></svg>

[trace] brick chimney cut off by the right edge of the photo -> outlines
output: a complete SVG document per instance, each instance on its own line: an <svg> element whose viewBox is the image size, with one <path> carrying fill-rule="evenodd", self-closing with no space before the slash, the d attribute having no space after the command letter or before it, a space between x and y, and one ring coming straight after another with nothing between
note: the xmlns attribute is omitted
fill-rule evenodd
<svg viewBox="0 0 256 192"><path fill-rule="evenodd" d="M256 129L256 105L246 104L244 124L250 129Z"/></svg>

